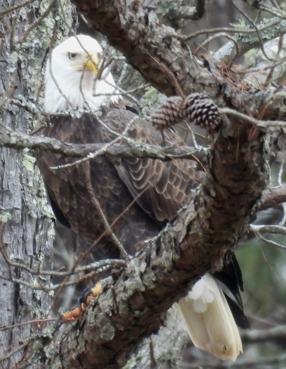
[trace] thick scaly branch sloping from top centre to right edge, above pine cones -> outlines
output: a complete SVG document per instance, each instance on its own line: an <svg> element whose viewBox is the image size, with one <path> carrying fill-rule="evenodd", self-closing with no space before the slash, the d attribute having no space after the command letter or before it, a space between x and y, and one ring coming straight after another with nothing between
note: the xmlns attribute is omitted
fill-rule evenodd
<svg viewBox="0 0 286 369"><path fill-rule="evenodd" d="M89 25L104 34L142 76L167 96L204 92L219 107L285 121L285 87L239 85L218 72L211 58L191 54L182 37L140 2L73 0ZM282 32L282 31L281 31ZM281 34L280 32L280 34ZM282 32L283 33L283 32Z"/></svg>

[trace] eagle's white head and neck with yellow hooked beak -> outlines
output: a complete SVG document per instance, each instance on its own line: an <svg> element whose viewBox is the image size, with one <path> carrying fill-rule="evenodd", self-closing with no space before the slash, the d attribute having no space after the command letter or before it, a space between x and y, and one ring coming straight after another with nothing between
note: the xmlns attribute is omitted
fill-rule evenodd
<svg viewBox="0 0 286 369"><path fill-rule="evenodd" d="M45 103L47 113L71 109L96 110L106 95L116 93L111 73L104 69L96 79L102 48L87 35L72 36L51 53L45 70ZM118 101L113 95L112 102Z"/></svg>

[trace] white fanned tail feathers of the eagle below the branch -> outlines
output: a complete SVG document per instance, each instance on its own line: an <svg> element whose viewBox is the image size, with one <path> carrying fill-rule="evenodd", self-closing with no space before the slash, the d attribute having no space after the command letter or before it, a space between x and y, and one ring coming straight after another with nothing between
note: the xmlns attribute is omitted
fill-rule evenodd
<svg viewBox="0 0 286 369"><path fill-rule="evenodd" d="M194 345L222 360L235 361L242 343L221 287L210 274L203 276L178 304Z"/></svg>

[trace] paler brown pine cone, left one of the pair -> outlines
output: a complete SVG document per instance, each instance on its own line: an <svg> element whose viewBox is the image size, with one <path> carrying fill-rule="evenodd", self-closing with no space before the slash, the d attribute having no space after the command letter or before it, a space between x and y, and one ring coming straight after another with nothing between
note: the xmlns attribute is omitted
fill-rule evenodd
<svg viewBox="0 0 286 369"><path fill-rule="evenodd" d="M157 130L164 130L183 117L183 99L180 96L171 96L151 114L150 120Z"/></svg>

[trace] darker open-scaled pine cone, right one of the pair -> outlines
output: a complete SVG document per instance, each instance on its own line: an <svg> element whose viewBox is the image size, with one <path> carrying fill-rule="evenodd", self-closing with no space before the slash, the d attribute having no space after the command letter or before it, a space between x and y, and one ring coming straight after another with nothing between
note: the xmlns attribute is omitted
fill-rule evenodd
<svg viewBox="0 0 286 369"><path fill-rule="evenodd" d="M222 122L214 101L201 93L188 95L184 101L183 110L190 123L207 130L217 130Z"/></svg>

